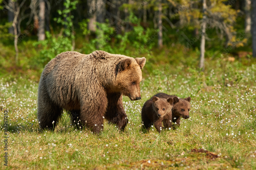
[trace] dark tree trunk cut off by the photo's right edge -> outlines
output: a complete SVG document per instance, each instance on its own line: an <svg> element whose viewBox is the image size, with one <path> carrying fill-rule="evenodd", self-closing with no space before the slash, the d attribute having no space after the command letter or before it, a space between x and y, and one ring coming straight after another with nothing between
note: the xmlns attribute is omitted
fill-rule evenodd
<svg viewBox="0 0 256 170"><path fill-rule="evenodd" d="M256 1L252 1L252 56L256 57Z"/></svg>

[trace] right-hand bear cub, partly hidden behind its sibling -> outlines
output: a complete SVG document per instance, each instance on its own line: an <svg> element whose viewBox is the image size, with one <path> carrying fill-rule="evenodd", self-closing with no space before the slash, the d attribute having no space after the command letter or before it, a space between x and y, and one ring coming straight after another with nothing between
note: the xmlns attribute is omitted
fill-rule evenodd
<svg viewBox="0 0 256 170"><path fill-rule="evenodd" d="M191 98L187 97L185 99L178 98L176 95L168 95L165 93L156 94L157 97L161 98L173 98L173 107L172 107L172 122L176 125L180 125L180 117L184 119L189 118L189 110L190 110L190 101ZM173 126L175 128L175 126Z"/></svg>

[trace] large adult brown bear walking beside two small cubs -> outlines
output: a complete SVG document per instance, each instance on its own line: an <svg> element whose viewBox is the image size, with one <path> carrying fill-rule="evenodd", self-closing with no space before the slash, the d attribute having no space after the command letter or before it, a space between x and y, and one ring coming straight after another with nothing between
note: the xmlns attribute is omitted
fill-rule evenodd
<svg viewBox="0 0 256 170"><path fill-rule="evenodd" d="M80 125L93 132L103 129L103 117L123 130L127 124L123 95L141 99L141 69L145 62L144 57L134 59L104 51L57 55L45 66L39 82L40 127L54 129L65 109L76 124L80 120Z"/></svg>

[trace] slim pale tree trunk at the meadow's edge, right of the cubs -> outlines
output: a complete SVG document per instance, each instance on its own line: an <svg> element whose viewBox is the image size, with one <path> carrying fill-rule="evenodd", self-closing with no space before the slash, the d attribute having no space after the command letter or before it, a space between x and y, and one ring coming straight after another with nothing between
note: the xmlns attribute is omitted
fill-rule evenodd
<svg viewBox="0 0 256 170"><path fill-rule="evenodd" d="M206 0L203 0L203 19L202 19L202 39L201 39L201 45L200 45L200 65L199 68L202 69L202 71L205 70L205 30L206 30Z"/></svg>

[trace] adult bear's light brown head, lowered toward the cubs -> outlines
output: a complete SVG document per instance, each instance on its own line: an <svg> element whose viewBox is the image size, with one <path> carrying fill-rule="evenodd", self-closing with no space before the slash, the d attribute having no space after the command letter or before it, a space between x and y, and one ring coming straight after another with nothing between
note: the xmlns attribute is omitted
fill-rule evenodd
<svg viewBox="0 0 256 170"><path fill-rule="evenodd" d="M123 95L131 100L140 100L141 69L146 63L146 58L123 58L116 67L117 86Z"/></svg>

